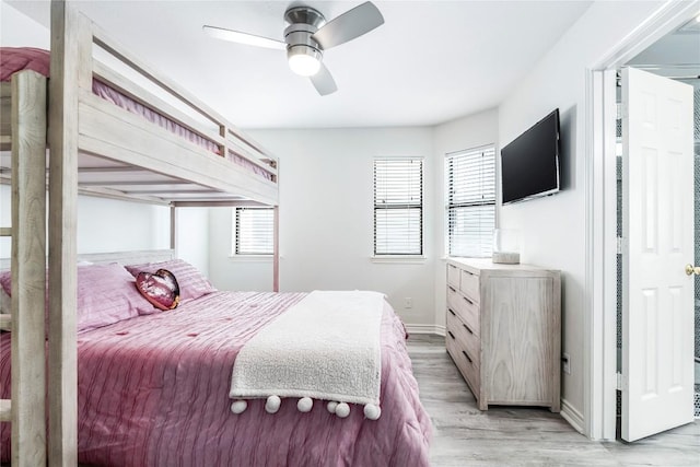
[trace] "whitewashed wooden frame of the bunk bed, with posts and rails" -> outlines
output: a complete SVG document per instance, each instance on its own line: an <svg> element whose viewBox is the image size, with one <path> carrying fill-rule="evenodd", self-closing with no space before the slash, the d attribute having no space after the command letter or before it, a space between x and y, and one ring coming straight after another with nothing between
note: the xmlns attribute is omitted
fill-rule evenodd
<svg viewBox="0 0 700 467"><path fill-rule="evenodd" d="M93 59L106 50L213 125ZM12 152L12 400L0 421L12 423L13 466L75 466L77 435L77 198L78 194L175 208L275 207L273 289L279 288L277 160L171 80L124 51L70 2L51 1L51 78L21 71L0 89L0 150ZM150 124L92 93L98 78L122 94L264 168L270 179ZM48 110L47 110L48 109ZM9 125L8 125L9 122ZM212 130L211 128L218 130ZM47 144L50 148L47 172ZM48 174L48 178L47 175ZM7 171L0 173L7 183ZM46 230L48 187L48 238ZM148 187L148 190L144 190ZM48 240L49 334L45 353ZM45 359L48 357L48 378ZM46 384L50 381L48 407ZM47 446L46 418L51 433Z"/></svg>

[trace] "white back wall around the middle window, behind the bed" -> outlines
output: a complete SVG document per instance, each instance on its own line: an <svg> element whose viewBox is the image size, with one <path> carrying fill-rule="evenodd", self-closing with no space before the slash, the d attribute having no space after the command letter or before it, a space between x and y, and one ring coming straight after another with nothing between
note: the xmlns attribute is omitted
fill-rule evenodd
<svg viewBox="0 0 700 467"><path fill-rule="evenodd" d="M371 289L410 325L434 324L434 217L425 209L425 260L378 264L373 253L375 156L424 156L424 206L433 206L431 128L258 130L280 157L280 289ZM231 214L211 211L210 272L222 289L271 289L271 265L229 258ZM406 308L404 299L413 306Z"/></svg>

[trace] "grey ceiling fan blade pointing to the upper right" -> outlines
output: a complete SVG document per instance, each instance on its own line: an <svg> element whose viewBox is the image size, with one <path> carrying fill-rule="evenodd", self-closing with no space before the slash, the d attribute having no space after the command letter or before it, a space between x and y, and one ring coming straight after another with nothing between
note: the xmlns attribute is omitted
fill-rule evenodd
<svg viewBox="0 0 700 467"><path fill-rule="evenodd" d="M324 49L329 49L360 37L382 24L384 24L384 16L374 3L368 1L326 23L311 37Z"/></svg>

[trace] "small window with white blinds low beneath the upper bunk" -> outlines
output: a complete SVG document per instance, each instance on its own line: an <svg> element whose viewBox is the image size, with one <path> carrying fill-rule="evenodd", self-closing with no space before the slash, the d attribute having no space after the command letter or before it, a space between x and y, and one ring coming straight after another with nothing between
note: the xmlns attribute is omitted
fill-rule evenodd
<svg viewBox="0 0 700 467"><path fill-rule="evenodd" d="M234 217L235 255L272 255L275 250L275 210L236 208Z"/></svg>

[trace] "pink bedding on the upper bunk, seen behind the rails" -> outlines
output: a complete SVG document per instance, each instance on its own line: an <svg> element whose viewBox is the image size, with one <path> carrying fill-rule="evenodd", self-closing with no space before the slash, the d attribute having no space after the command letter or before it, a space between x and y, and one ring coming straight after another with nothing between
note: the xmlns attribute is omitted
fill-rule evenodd
<svg viewBox="0 0 700 467"><path fill-rule="evenodd" d="M48 50L31 47L0 47L0 81L10 81L12 74L21 70L34 70L45 77L49 75L50 55ZM133 101L98 80L93 80L92 91L105 101L109 101L118 107L140 115L150 122L159 125L168 131L178 135L188 141L205 148L215 154L220 154L219 147L210 140L176 124L166 116ZM272 175L262 167L252 163L247 159L229 151L228 159L267 179Z"/></svg>

